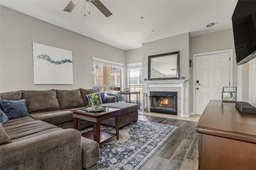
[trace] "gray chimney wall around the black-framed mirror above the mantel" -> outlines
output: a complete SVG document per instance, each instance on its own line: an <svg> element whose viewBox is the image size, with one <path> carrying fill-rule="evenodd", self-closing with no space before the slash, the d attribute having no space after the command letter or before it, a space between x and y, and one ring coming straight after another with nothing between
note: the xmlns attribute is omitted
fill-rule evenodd
<svg viewBox="0 0 256 170"><path fill-rule="evenodd" d="M180 51L180 77L189 79L189 33L176 35L142 44L143 78L148 79L148 56L173 51ZM189 81L184 83L184 115L189 115Z"/></svg>

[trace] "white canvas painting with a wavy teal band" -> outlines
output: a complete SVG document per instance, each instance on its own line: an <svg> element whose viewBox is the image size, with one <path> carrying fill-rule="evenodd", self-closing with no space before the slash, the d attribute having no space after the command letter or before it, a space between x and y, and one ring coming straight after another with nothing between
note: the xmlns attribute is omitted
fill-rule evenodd
<svg viewBox="0 0 256 170"><path fill-rule="evenodd" d="M72 51L33 42L34 84L73 84Z"/></svg>

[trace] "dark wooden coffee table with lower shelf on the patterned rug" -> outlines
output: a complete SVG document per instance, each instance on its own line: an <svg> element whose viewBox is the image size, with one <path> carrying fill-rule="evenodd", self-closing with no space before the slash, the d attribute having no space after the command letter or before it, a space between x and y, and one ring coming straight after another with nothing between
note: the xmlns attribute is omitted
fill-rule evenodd
<svg viewBox="0 0 256 170"><path fill-rule="evenodd" d="M86 133L82 133L81 135L83 137L92 139L98 143L102 143L103 141L106 141L107 139L110 139L114 136L116 136L117 140L119 139L118 116L121 111L120 109L106 107L106 111L102 111L102 112L89 112L89 111L86 111L85 109L78 109L78 110L72 110L72 111L73 111L74 129L78 129L78 119L83 119L83 120L93 122L93 130L88 131ZM116 134L100 129L100 121L109 119L111 117L115 117Z"/></svg>

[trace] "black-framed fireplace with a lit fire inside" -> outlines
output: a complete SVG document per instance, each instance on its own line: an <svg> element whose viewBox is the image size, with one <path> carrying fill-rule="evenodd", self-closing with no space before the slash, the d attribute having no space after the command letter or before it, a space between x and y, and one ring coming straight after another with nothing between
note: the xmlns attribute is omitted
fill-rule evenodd
<svg viewBox="0 0 256 170"><path fill-rule="evenodd" d="M177 92L150 92L150 112L177 115Z"/></svg>

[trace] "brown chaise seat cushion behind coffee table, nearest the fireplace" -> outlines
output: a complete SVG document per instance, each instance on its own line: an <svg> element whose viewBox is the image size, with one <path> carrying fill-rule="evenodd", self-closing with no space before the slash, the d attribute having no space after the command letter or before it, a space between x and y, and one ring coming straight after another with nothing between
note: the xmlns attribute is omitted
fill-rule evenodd
<svg viewBox="0 0 256 170"><path fill-rule="evenodd" d="M101 106L121 109L121 112L119 113L119 116L126 115L128 113L132 113L134 111L137 111L138 107L139 107L138 104L120 103L120 102L104 103Z"/></svg>

